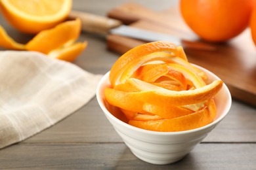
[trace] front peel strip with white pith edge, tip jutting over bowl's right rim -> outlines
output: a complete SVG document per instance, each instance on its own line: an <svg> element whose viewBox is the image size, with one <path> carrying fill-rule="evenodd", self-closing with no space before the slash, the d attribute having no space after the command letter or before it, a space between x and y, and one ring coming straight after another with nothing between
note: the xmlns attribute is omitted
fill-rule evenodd
<svg viewBox="0 0 256 170"><path fill-rule="evenodd" d="M152 105L192 105L213 97L223 86L223 81L215 80L202 88L186 91L173 91L154 86L136 78L128 79L131 84L142 92L131 92L134 99Z"/></svg>

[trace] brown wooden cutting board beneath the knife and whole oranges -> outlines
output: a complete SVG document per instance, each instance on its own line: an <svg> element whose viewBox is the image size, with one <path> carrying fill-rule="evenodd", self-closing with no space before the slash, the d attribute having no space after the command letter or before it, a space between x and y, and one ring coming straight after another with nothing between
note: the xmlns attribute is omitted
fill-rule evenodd
<svg viewBox="0 0 256 170"><path fill-rule="evenodd" d="M156 12L137 3L126 3L110 10L108 17L133 27L200 41L184 23L177 7ZM119 35L108 35L107 42L108 49L119 54L144 43ZM249 29L229 42L212 45L216 47L215 51L184 50L191 63L205 67L219 76L228 86L232 97L256 106L256 48Z"/></svg>

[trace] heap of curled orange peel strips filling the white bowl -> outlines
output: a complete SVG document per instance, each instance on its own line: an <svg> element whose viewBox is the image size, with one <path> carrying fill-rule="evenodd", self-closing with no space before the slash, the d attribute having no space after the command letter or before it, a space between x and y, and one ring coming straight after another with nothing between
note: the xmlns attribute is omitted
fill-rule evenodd
<svg viewBox="0 0 256 170"><path fill-rule="evenodd" d="M188 62L181 46L157 41L137 46L110 70L106 101L118 107L128 124L152 131L184 131L213 121L214 96L222 80L207 84L207 75Z"/></svg>

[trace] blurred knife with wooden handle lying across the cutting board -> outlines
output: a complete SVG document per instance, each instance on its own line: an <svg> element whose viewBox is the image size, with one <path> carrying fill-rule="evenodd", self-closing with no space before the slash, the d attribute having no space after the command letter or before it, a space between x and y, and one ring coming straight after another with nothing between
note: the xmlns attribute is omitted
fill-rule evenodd
<svg viewBox="0 0 256 170"><path fill-rule="evenodd" d="M190 41L175 37L173 35L158 33L156 31L149 31L129 25L123 25L121 21L104 16L98 16L87 12L80 12L73 10L70 12L69 19L80 18L82 30L90 33L100 34L116 34L133 39L139 39L146 42L152 41L169 41L176 46L183 46L184 48L192 48L197 50L216 50L215 46L205 44L198 41Z"/></svg>

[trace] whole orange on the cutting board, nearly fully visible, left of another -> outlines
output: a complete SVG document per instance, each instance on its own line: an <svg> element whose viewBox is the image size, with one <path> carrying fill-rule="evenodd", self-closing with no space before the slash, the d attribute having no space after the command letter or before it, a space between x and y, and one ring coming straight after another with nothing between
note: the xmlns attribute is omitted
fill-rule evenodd
<svg viewBox="0 0 256 170"><path fill-rule="evenodd" d="M186 24L199 37L224 42L249 25L253 0L181 0L180 9Z"/></svg>

